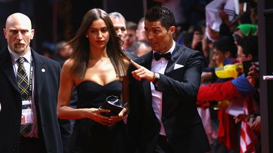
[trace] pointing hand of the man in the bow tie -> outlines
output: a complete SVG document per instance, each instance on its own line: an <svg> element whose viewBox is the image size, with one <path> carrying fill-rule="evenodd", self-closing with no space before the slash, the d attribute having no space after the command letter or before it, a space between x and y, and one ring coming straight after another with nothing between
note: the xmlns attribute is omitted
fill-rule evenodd
<svg viewBox="0 0 273 153"><path fill-rule="evenodd" d="M136 62L131 60L131 63L134 65L134 67L136 67L135 71L132 71L132 76L136 79L136 80L141 80L141 79L145 79L148 80L149 82L153 82L154 81L154 72L146 69L145 67L142 67L141 65L137 64Z"/></svg>

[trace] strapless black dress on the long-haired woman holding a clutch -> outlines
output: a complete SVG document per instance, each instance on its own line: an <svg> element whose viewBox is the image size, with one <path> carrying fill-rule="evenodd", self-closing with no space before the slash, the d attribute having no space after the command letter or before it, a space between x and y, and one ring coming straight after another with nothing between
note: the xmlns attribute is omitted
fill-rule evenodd
<svg viewBox="0 0 273 153"><path fill-rule="evenodd" d="M118 80L104 86L92 81L77 86L77 108L99 108L109 95L121 95L122 83ZM123 153L126 152L125 124L123 120L113 126L103 126L92 119L77 119L70 140L70 152Z"/></svg>

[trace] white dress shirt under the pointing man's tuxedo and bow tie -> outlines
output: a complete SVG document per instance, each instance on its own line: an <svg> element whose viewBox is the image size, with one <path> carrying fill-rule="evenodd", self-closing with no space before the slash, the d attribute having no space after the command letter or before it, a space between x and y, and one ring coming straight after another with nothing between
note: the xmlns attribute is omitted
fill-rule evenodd
<svg viewBox="0 0 273 153"><path fill-rule="evenodd" d="M172 40L172 47L166 53L170 52L172 54L172 51L174 51L174 47L175 47L175 42L174 42L174 40ZM153 51L153 53L154 52L155 51ZM165 69L167 67L167 64L168 64L168 60L166 60L165 58L161 58L158 61L156 61L156 60L154 60L154 58L152 58L151 71L164 74ZM159 123L161 125L161 129L160 129L159 134L166 135L164 127L163 127L163 123L161 121L161 116L162 116L162 92L156 91L154 89L154 84L152 84L152 82L150 83L150 86L151 86L151 91L152 91L152 108L154 109L154 113L155 113L157 119L159 119Z"/></svg>

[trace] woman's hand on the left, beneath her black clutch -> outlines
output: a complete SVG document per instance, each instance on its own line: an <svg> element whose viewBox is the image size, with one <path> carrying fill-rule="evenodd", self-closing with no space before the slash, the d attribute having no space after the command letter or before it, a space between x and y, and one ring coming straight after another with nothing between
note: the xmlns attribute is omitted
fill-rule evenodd
<svg viewBox="0 0 273 153"><path fill-rule="evenodd" d="M110 117L105 117L101 115L101 113L109 113L110 110L105 109L99 109L99 108L87 108L85 117L88 119L92 119L94 121L97 121L98 123L101 123L103 125L108 126Z"/></svg>

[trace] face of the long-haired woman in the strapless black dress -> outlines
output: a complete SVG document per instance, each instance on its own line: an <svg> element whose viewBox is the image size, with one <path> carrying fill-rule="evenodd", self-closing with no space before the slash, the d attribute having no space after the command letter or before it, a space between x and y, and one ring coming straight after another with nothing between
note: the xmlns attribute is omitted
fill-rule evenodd
<svg viewBox="0 0 273 153"><path fill-rule="evenodd" d="M108 27L102 19L92 22L86 36L88 37L91 49L105 49L110 38Z"/></svg>

